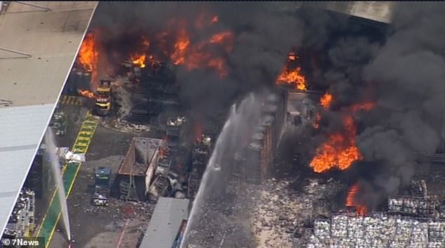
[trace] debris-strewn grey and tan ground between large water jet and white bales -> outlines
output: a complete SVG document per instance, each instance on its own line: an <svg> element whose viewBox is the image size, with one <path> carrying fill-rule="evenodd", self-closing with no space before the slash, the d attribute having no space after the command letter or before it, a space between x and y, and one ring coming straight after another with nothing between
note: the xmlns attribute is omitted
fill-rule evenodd
<svg viewBox="0 0 445 248"><path fill-rule="evenodd" d="M295 170L298 170L296 168ZM315 217L331 213L340 181L270 178L261 185L240 182L233 202L207 203L200 230L190 233L197 247L300 247Z"/></svg>

